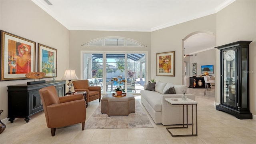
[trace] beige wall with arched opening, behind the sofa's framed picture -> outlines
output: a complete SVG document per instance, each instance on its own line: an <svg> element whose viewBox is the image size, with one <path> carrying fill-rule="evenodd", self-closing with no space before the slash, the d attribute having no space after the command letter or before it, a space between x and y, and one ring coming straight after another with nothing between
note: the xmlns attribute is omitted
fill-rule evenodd
<svg viewBox="0 0 256 144"><path fill-rule="evenodd" d="M161 30L156 30L151 34L151 77L156 77L156 81L172 82L182 84L183 82L183 43L188 34L197 31L216 31L216 14L170 26ZM175 76L156 76L156 53L175 52ZM191 69L191 68L190 68Z"/></svg>

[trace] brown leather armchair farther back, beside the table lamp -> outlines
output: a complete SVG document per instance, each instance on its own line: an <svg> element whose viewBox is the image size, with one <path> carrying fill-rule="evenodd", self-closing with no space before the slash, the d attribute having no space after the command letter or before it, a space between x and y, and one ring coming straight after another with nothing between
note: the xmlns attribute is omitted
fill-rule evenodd
<svg viewBox="0 0 256 144"><path fill-rule="evenodd" d="M83 92L86 91L86 103L91 102L93 100L101 99L101 87L100 86L89 86L88 80L76 80L73 81L73 86L75 92ZM87 105L86 105L87 107Z"/></svg>

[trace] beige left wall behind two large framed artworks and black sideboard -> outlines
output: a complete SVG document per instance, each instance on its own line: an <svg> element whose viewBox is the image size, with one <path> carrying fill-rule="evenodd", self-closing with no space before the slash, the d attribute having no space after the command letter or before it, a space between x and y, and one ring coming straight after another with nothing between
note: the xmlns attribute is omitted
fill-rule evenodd
<svg viewBox="0 0 256 144"><path fill-rule="evenodd" d="M68 30L40 9L30 0L1 0L0 29L36 42L36 71L38 43L58 50L57 80L64 75L69 65ZM52 78L44 78L52 80ZM24 84L31 80L11 80L0 82L0 109L4 110L1 119L8 116L8 85Z"/></svg>

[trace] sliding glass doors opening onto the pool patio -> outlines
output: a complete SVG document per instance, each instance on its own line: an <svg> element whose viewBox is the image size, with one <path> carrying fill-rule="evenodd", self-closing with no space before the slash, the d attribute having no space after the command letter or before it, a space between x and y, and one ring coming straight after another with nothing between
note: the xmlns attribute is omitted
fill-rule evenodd
<svg viewBox="0 0 256 144"><path fill-rule="evenodd" d="M101 86L102 94L112 93L117 84L112 78L122 76L127 80L127 93L140 93L144 89L146 76L145 53L83 53L83 76L90 85Z"/></svg>

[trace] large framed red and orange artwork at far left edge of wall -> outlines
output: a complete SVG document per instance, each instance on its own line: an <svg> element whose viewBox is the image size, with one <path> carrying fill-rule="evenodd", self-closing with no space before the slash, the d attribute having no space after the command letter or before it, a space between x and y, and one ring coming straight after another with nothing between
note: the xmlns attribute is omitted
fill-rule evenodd
<svg viewBox="0 0 256 144"><path fill-rule="evenodd" d="M27 79L35 72L36 42L1 30L1 81Z"/></svg>

